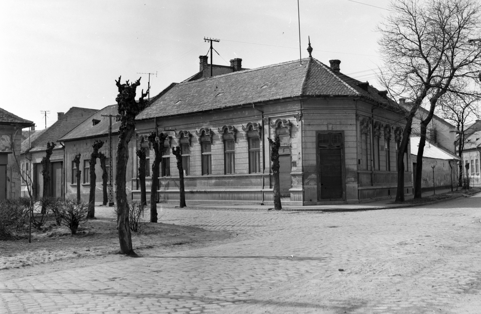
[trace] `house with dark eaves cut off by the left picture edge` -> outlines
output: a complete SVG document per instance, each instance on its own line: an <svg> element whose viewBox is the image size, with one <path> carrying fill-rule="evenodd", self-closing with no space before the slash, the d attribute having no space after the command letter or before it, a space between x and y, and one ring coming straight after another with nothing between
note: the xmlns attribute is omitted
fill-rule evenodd
<svg viewBox="0 0 481 314"><path fill-rule="evenodd" d="M22 129L30 126L32 121L0 108L0 200L20 196Z"/></svg>

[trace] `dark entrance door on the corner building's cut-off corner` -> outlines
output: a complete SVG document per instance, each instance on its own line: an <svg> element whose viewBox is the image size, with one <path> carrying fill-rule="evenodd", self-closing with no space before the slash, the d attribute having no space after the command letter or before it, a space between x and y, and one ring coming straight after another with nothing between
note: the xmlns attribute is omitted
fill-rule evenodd
<svg viewBox="0 0 481 314"><path fill-rule="evenodd" d="M342 200L342 133L319 134L318 147L320 200Z"/></svg>

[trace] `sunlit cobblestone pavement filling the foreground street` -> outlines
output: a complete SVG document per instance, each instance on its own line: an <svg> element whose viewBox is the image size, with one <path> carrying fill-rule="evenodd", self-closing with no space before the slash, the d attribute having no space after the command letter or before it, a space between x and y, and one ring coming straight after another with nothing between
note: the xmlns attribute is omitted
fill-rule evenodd
<svg viewBox="0 0 481 314"><path fill-rule="evenodd" d="M479 314L480 201L349 213L159 206L165 223L234 238L55 272L44 265L32 276L0 272L0 313Z"/></svg>

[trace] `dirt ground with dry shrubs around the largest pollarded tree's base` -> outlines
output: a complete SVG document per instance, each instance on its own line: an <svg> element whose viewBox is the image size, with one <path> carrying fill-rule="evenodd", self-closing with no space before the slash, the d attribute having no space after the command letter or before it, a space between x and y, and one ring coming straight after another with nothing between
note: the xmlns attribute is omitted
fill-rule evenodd
<svg viewBox="0 0 481 314"><path fill-rule="evenodd" d="M150 248L176 250L180 247L207 245L211 241L230 238L227 232L164 223L142 223L132 232L134 251L142 254ZM49 218L43 230L32 228L32 242L27 230L20 239L0 241L0 269L49 263L84 257L106 257L119 248L116 220L100 217L81 225L75 236L65 226L56 226Z"/></svg>

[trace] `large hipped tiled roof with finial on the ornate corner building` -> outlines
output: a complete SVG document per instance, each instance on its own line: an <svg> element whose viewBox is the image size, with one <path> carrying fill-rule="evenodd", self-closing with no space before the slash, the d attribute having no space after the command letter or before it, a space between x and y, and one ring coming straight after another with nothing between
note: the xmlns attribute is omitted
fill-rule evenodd
<svg viewBox="0 0 481 314"><path fill-rule="evenodd" d="M359 81L312 58L217 75L172 87L139 113L137 120L235 107L242 104L292 97L360 96L394 103L357 86Z"/></svg>

